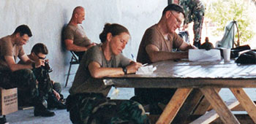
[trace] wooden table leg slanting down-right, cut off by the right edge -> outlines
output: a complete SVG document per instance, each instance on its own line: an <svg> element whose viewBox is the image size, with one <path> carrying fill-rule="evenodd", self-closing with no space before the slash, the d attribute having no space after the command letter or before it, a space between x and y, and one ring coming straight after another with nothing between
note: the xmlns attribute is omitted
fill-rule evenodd
<svg viewBox="0 0 256 124"><path fill-rule="evenodd" d="M256 106L255 103L247 96L243 88L230 88L231 92L236 96L241 106L246 110L248 115L256 123Z"/></svg>

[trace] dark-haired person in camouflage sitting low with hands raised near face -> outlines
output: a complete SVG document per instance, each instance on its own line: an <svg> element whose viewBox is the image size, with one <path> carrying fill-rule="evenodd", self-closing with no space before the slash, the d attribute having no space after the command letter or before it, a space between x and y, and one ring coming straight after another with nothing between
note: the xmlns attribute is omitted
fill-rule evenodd
<svg viewBox="0 0 256 124"><path fill-rule="evenodd" d="M48 49L45 44L42 43L34 44L31 53L28 55L31 61L39 59L44 62L39 68L33 69L33 73L38 82L39 96L47 101L48 109L66 109L66 106L61 103L61 99L63 99L61 95L61 84L50 80L49 73L52 69L50 69L49 60L45 59L47 55ZM23 62L20 61L19 63ZM29 102L27 104L29 104Z"/></svg>

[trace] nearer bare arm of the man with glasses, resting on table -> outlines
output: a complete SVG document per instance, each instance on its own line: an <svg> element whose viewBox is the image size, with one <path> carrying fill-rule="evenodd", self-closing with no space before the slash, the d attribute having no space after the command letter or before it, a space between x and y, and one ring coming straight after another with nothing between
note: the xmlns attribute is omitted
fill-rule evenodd
<svg viewBox="0 0 256 124"><path fill-rule="evenodd" d="M146 52L148 53L148 56L152 63L155 63L157 61L188 58L187 52L172 53L172 52L159 51L158 47L155 46L154 44L148 44L146 46Z"/></svg>

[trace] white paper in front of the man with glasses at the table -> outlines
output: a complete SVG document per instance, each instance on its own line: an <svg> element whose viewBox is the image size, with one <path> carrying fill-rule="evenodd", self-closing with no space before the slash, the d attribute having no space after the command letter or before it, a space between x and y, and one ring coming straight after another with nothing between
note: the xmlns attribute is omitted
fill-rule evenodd
<svg viewBox="0 0 256 124"><path fill-rule="evenodd" d="M221 59L220 50L189 50L189 61L220 61Z"/></svg>

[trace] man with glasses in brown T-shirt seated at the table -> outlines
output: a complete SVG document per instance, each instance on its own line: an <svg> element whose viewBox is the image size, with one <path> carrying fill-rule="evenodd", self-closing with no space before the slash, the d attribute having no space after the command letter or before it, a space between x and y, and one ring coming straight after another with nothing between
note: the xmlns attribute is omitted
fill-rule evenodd
<svg viewBox="0 0 256 124"><path fill-rule="evenodd" d="M162 12L162 18L157 24L148 28L143 35L138 50L137 61L140 63L155 63L157 61L178 60L188 58L189 49L196 49L195 46L184 42L176 29L180 28L184 20L184 10L177 4L169 4ZM184 52L173 52L173 48ZM135 88L135 97L132 100L140 104L149 104L151 114L162 112L157 104L167 104L171 94L176 89L164 88Z"/></svg>

